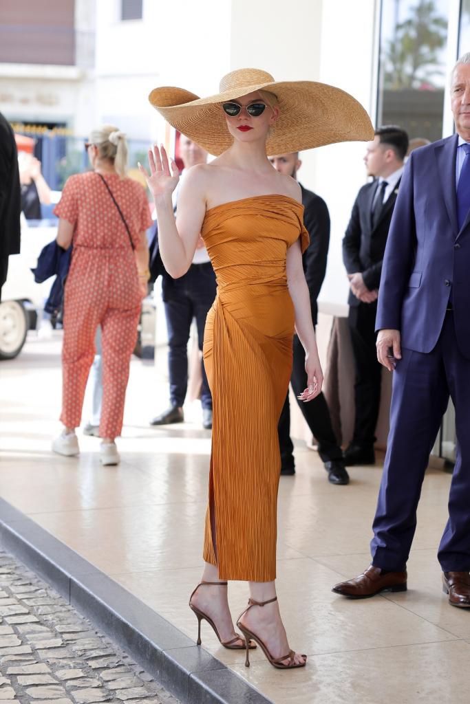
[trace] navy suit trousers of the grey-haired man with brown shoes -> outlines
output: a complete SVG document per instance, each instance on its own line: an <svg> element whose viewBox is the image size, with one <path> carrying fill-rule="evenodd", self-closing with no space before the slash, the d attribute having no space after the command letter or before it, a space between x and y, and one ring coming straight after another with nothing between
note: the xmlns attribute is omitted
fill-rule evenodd
<svg viewBox="0 0 470 704"><path fill-rule="evenodd" d="M383 570L402 571L407 563L429 453L450 396L457 453L438 560L444 572L470 571L470 360L457 346L453 315L447 312L433 351L402 348L393 372L390 433L371 542L372 563Z"/></svg>

